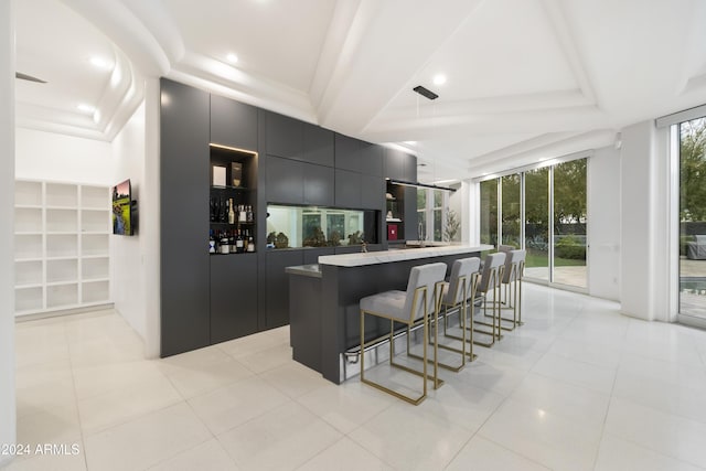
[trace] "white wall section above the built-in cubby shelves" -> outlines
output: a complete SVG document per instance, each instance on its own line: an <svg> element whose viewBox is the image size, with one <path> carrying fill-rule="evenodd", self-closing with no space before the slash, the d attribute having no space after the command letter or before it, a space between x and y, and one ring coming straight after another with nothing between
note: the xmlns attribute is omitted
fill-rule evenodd
<svg viewBox="0 0 706 471"><path fill-rule="evenodd" d="M15 178L113 185L110 142L17 128Z"/></svg>

